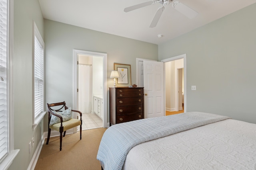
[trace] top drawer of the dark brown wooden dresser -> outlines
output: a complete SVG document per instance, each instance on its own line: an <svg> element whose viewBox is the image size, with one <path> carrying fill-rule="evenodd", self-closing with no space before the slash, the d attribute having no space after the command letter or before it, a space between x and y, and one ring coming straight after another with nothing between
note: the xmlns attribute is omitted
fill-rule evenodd
<svg viewBox="0 0 256 170"><path fill-rule="evenodd" d="M139 97L143 96L143 89L141 88L132 88L132 89L117 89L116 90L116 97Z"/></svg>

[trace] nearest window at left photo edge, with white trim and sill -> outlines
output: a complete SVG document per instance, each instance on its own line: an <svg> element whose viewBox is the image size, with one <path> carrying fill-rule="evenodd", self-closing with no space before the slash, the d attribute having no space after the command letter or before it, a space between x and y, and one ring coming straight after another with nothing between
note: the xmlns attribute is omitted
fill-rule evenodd
<svg viewBox="0 0 256 170"><path fill-rule="evenodd" d="M18 154L13 140L13 0L0 0L0 169L6 170Z"/></svg>

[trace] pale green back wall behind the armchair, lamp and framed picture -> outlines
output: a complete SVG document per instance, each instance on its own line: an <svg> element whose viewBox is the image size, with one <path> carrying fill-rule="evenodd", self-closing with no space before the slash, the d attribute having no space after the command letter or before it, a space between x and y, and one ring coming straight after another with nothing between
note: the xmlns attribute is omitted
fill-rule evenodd
<svg viewBox="0 0 256 170"><path fill-rule="evenodd" d="M136 58L157 60L158 45L93 31L65 23L44 20L46 45L46 103L65 100L72 106L73 49L107 53L107 76L114 63L130 64L136 83ZM113 79L108 78L108 87ZM107 101L108 106L108 101ZM107 109L109 112L109 108ZM108 114L109 115L109 114ZM47 131L45 117L44 131Z"/></svg>

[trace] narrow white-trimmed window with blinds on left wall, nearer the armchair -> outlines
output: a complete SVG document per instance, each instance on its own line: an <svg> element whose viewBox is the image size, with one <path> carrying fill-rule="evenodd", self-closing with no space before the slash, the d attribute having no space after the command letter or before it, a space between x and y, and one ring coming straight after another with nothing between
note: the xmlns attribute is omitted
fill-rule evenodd
<svg viewBox="0 0 256 170"><path fill-rule="evenodd" d="M44 41L33 22L34 39L33 39L33 59L34 59L34 128L44 117Z"/></svg>

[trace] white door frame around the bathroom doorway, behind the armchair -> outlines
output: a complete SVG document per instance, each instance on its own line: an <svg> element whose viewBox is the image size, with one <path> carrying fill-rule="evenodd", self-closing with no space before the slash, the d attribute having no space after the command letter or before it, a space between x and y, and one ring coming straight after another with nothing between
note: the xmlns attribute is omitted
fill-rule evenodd
<svg viewBox="0 0 256 170"><path fill-rule="evenodd" d="M73 50L73 107L74 109L78 109L78 55L90 55L90 56L96 56L96 57L103 57L103 121L102 125L104 128L107 127L107 57L108 55L106 53L98 53L98 52L92 52L92 51L84 51L84 50ZM76 131L76 128L74 128L74 133Z"/></svg>

